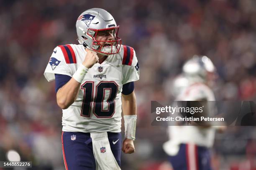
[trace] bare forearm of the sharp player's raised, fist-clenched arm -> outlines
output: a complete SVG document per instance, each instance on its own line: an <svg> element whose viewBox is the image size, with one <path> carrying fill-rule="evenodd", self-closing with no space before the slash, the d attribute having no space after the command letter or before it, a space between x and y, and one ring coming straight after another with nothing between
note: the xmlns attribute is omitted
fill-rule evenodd
<svg viewBox="0 0 256 170"><path fill-rule="evenodd" d="M81 83L72 78L57 92L57 104L61 109L67 109L77 99Z"/></svg>

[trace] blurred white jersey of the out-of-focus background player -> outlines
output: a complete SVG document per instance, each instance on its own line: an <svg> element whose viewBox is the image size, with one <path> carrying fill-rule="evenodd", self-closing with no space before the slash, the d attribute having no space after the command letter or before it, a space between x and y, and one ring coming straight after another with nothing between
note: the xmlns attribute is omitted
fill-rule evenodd
<svg viewBox="0 0 256 170"><path fill-rule="evenodd" d="M212 90L203 83L193 83L182 90L177 101L215 101ZM169 138L166 148L175 148L174 145L192 143L199 146L212 147L214 143L215 129L200 126L169 126ZM169 146L168 146L169 145ZM168 147L167 147L168 146ZM175 150L176 153L177 150ZM167 151L168 153L169 151ZM170 152L171 153L171 152ZM171 155L171 154L169 154ZM175 155L175 154L174 154Z"/></svg>

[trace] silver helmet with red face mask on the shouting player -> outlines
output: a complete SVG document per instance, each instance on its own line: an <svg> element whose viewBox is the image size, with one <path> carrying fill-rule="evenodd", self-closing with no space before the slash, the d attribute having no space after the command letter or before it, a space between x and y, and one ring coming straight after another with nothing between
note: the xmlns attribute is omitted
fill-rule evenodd
<svg viewBox="0 0 256 170"><path fill-rule="evenodd" d="M118 37L119 26L113 16L101 8L84 11L77 18L76 23L79 44L102 55L116 54L120 50L121 39ZM97 33L104 30L114 30L112 41L96 40ZM105 42L106 46L100 45Z"/></svg>

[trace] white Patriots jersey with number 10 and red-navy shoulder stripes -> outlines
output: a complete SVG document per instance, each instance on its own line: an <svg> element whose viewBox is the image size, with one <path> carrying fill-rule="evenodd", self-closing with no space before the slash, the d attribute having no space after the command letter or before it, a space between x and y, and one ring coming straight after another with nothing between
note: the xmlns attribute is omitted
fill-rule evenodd
<svg viewBox="0 0 256 170"><path fill-rule="evenodd" d="M83 45L59 45L54 49L44 76L72 75L84 61ZM100 133L121 131L121 92L125 83L139 79L138 60L132 47L121 45L101 64L93 65L84 77L76 101L62 110L63 131Z"/></svg>

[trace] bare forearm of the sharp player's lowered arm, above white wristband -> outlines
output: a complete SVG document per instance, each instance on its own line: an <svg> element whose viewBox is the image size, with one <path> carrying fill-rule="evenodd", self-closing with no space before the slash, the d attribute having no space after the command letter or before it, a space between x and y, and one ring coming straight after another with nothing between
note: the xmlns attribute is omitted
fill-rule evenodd
<svg viewBox="0 0 256 170"><path fill-rule="evenodd" d="M129 95L122 94L123 115L137 115L136 96L134 91Z"/></svg>

